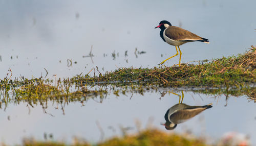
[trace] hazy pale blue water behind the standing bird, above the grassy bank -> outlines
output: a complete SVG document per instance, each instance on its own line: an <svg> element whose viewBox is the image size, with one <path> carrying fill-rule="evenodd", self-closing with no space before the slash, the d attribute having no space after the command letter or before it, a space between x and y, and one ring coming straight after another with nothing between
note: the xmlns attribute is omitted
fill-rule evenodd
<svg viewBox="0 0 256 146"><path fill-rule="evenodd" d="M47 78L62 78L96 66L101 73L158 66L176 54L154 29L161 20L210 41L182 45L181 62L244 53L255 44L255 5L253 0L0 1L0 78L9 68L13 77L44 77L46 68ZM164 65L178 61L175 57Z"/></svg>

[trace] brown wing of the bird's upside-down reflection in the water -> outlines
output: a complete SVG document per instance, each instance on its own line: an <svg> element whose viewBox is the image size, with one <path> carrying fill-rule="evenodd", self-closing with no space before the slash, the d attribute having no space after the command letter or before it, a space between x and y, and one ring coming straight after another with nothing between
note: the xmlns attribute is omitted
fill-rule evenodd
<svg viewBox="0 0 256 146"><path fill-rule="evenodd" d="M204 111L205 109L206 108L178 110L177 112L170 115L170 120L175 124L183 123L187 119L198 115L200 112Z"/></svg>

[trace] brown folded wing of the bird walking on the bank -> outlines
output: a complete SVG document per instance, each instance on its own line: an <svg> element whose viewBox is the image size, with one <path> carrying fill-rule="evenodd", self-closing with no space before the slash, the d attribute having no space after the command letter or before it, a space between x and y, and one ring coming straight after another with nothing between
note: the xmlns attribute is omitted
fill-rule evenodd
<svg viewBox="0 0 256 146"><path fill-rule="evenodd" d="M202 38L194 33L191 33L187 30L184 30L179 27L170 26L166 29L165 35L173 40L191 40L191 41L197 41L202 40Z"/></svg>

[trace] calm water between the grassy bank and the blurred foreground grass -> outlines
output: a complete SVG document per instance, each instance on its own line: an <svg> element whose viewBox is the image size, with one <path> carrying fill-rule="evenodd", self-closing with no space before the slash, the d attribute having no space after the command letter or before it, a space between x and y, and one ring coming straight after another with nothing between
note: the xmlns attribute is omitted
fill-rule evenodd
<svg viewBox="0 0 256 146"><path fill-rule="evenodd" d="M181 92L176 93L181 94ZM179 102L178 96L172 93L166 94L161 100L159 92L126 95L117 97L110 94L102 103L99 100L89 100L84 106L79 102L70 103L64 108L65 115L61 106L57 106L56 103L48 103L49 108L46 111L49 114L45 114L39 105L29 109L27 104L10 104L6 111L0 110L0 124L4 125L0 137L2 141L13 144L29 136L44 140L44 133L47 133L53 134L55 140L65 139L71 142L72 137L77 136L96 142L101 136L97 122L103 129L105 139L121 135L120 127L131 127L132 129L127 132L136 132L136 120L140 121L142 129L152 124L153 127L165 130L160 125L165 122L164 114ZM224 133L235 131L249 135L252 143L255 144L256 114L252 112L256 110L255 103L248 102L246 96L240 98L230 96L226 105L226 96L214 97L184 92L183 103L190 106L212 103L212 108L178 124L169 132L191 131L197 136L210 136L211 139L208 141L216 141ZM55 109L56 107L58 109Z"/></svg>

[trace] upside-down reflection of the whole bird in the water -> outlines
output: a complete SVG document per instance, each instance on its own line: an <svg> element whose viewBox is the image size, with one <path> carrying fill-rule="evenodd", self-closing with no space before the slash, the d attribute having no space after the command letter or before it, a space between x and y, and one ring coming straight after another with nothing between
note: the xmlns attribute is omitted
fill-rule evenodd
<svg viewBox="0 0 256 146"><path fill-rule="evenodd" d="M202 111L212 107L211 103L205 106L189 106L189 105L183 104L182 102L183 102L184 94L183 94L183 91L181 92L182 92L182 100L181 100L181 95L173 93L180 97L181 102L179 100L179 103L170 107L164 115L166 122L165 124L162 124L162 125L164 125L167 130L175 129L177 127L177 124L183 123L184 121L198 115Z"/></svg>

